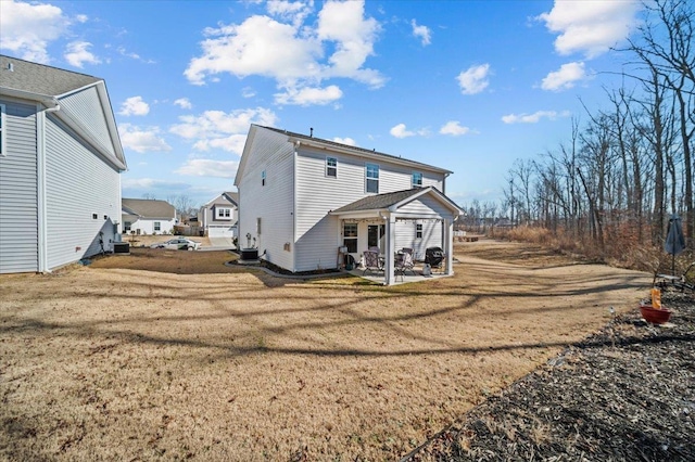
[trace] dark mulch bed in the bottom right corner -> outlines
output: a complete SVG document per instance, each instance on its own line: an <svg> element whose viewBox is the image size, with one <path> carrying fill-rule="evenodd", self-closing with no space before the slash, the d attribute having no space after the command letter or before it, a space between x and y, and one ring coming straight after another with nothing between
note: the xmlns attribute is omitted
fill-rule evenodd
<svg viewBox="0 0 695 462"><path fill-rule="evenodd" d="M695 296L617 316L403 461L694 461Z"/></svg>

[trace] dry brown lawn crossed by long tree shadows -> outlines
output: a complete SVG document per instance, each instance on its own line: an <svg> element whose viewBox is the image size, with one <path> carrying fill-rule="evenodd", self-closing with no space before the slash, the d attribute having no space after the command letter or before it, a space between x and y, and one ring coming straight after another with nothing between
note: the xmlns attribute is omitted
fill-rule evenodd
<svg viewBox="0 0 695 462"><path fill-rule="evenodd" d="M393 460L650 284L525 244L456 257L393 287L150 249L1 275L0 459Z"/></svg>

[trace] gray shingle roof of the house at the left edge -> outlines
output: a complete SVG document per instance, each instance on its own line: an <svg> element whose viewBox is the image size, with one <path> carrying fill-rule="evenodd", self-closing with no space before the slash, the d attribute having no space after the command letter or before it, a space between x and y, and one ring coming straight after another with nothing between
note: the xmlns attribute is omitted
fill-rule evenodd
<svg viewBox="0 0 695 462"><path fill-rule="evenodd" d="M0 55L0 87L59 97L100 80L103 79Z"/></svg>

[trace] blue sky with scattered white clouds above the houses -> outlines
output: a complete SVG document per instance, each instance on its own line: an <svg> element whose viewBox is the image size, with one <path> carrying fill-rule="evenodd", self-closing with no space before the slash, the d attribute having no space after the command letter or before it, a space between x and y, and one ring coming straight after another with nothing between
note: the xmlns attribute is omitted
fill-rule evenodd
<svg viewBox="0 0 695 462"><path fill-rule="evenodd" d="M466 205L605 104L639 18L631 0L0 0L0 50L106 80L124 197L233 191L261 124L447 168Z"/></svg>

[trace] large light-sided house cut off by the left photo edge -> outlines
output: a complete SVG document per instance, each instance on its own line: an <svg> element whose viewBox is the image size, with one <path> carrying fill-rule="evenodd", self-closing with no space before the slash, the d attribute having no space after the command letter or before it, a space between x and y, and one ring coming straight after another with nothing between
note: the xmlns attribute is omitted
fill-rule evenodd
<svg viewBox="0 0 695 462"><path fill-rule="evenodd" d="M0 55L0 273L112 251L126 159L106 84Z"/></svg>

